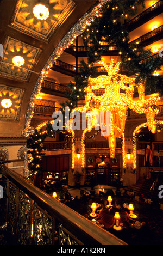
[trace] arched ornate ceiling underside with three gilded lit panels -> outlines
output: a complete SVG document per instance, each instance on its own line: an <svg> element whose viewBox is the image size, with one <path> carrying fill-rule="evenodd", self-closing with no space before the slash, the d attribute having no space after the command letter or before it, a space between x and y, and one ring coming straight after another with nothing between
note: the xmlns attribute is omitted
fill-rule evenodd
<svg viewBox="0 0 163 256"><path fill-rule="evenodd" d="M0 137L21 136L35 84L49 56L96 0L0 2ZM43 9L37 5L43 5ZM35 8L36 7L36 8ZM41 6L42 8L42 6ZM14 58L23 60L15 64ZM2 100L11 100L8 108ZM10 121L12 123L12 129Z"/></svg>

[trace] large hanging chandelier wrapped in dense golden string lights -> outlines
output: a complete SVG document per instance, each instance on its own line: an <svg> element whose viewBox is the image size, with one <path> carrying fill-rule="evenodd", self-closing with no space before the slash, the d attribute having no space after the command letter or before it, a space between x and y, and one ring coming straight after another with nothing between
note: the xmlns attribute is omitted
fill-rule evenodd
<svg viewBox="0 0 163 256"><path fill-rule="evenodd" d="M139 114L146 113L148 129L151 130L152 133L155 133L155 115L159 113L159 110L156 109L156 101L159 99L159 97L158 94L154 94L148 99L145 99L145 86L142 83L135 84L135 78L130 78L126 75L119 74L120 63L117 63L114 66L113 59L111 59L110 66L108 66L103 60L101 61L101 64L103 64L104 68L108 72L108 75L101 75L97 78L89 78L88 86L85 88L85 105L83 107L77 107L73 109L73 111L79 111L80 113L91 111L92 117L94 117L92 118L92 127L95 127L96 124L95 113L100 113L101 111L110 112L110 135L103 136L108 137L110 157L114 158L116 138L123 138L127 117L127 108L132 109ZM138 100L133 99L135 86L137 87L139 93ZM96 90L101 88L104 89L103 95L96 95ZM84 141L86 131L89 131L88 127L83 131L82 142ZM85 164L84 150L85 147L82 143L83 168Z"/></svg>

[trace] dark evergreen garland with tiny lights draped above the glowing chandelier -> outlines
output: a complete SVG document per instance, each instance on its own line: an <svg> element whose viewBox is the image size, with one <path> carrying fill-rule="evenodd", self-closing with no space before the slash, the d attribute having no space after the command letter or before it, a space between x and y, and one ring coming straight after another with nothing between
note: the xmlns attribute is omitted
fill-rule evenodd
<svg viewBox="0 0 163 256"><path fill-rule="evenodd" d="M88 84L89 77L97 77L95 63L98 63L102 55L108 51L109 46L116 45L121 53L121 62L127 70L128 76L135 75L135 83L145 84L145 94L163 93L162 77L153 76L155 70L159 71L162 59L144 58L152 55L151 50L145 50L140 45L129 42L129 32L126 23L129 17L136 14L137 5L143 0L112 0L102 7L101 14L87 24L82 38L84 46L87 48L87 63L80 62L79 74L74 77L74 82L70 82L69 88L72 93L66 93L68 101L62 103L62 107L69 106L70 110L77 106L78 100L84 99L84 88Z"/></svg>

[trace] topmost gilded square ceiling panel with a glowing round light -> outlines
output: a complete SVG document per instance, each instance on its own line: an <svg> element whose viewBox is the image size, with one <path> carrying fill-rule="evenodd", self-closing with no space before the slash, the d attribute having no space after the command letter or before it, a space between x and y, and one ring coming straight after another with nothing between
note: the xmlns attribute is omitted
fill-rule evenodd
<svg viewBox="0 0 163 256"><path fill-rule="evenodd" d="M48 41L76 3L73 0L41 1L40 3L43 3L47 8L47 16L41 19L41 16L35 17L33 13L34 7L39 4L38 2L37 0L18 1L10 26L26 34L32 34L36 38Z"/></svg>

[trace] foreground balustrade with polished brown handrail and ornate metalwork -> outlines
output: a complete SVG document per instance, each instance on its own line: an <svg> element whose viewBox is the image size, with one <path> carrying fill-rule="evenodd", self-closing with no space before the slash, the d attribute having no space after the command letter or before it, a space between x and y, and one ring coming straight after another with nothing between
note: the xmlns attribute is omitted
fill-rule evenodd
<svg viewBox="0 0 163 256"><path fill-rule="evenodd" d="M18 245L126 245L14 170L0 169L7 230Z"/></svg>

